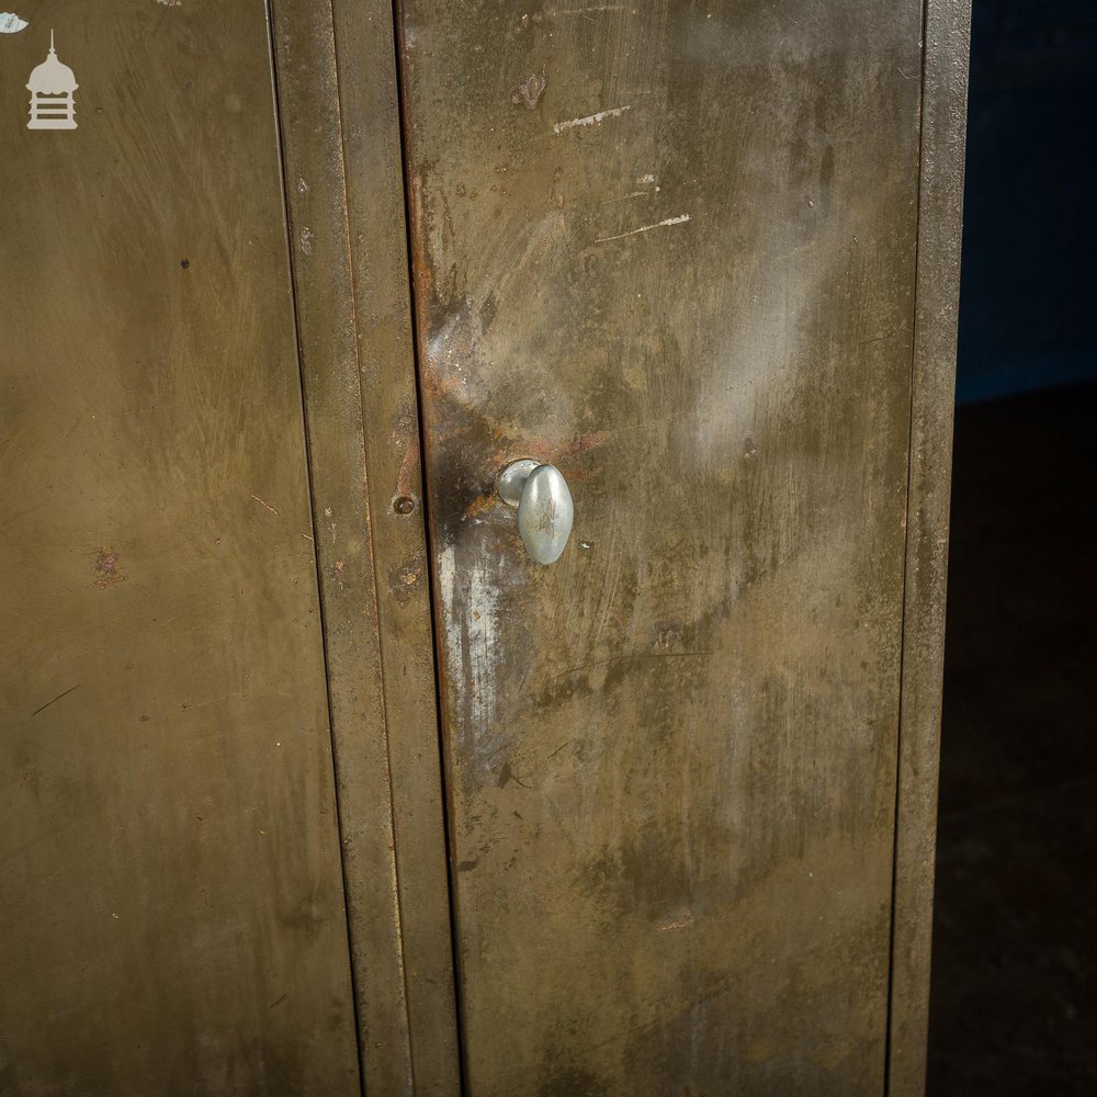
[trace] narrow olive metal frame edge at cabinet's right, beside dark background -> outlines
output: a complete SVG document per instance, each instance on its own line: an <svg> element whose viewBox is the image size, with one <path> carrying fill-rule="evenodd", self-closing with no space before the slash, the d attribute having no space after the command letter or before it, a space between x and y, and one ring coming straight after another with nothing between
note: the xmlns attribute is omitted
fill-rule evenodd
<svg viewBox="0 0 1097 1097"><path fill-rule="evenodd" d="M928 0L889 1093L926 1088L970 0Z"/></svg>

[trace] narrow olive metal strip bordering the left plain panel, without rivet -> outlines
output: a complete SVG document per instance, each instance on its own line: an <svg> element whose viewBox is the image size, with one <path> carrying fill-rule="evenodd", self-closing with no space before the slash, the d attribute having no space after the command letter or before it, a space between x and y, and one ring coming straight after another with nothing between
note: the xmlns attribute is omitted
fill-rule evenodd
<svg viewBox="0 0 1097 1097"><path fill-rule="evenodd" d="M278 8L279 0L273 0ZM291 10L278 31L279 19L272 11L275 31L273 54L279 82L286 219L293 271L295 320L302 369L304 420L308 437L309 484L313 507L313 533L318 584L324 608L325 658L328 674L328 706L332 755L336 768L340 855L347 902L347 928L350 968L359 1039L360 1078L363 1092L383 1095L397 1088L412 1092L410 1022L407 1000L407 974L403 949L398 866L396 859L393 781L389 759L388 715L381 655L380 606L375 566L374 525L369 498L370 470L366 461L365 423L359 417L351 423L344 416L346 392L352 392L361 409L361 361L354 298L354 270L350 248L350 224L343 160L342 117L333 92L338 89L335 16L330 2L327 18ZM292 30L290 30L292 29ZM323 41L319 41L323 39ZM303 58L282 56L298 47ZM294 78L296 82L294 83ZM294 83L294 87L290 87ZM286 97L296 105L303 102L304 114L318 122L297 124L286 118ZM324 110L319 108L324 106ZM332 110L331 108L336 109ZM333 115L333 117L332 117ZM304 132L312 139L302 140ZM315 144L313 143L315 142ZM310 177L310 182L305 176ZM299 183L293 180L299 176ZM298 210L307 199L309 208ZM316 273L303 270L297 256L297 234L308 234L306 255L312 256ZM302 245L304 248L304 245ZM321 260L328 263L323 264ZM318 270L323 265L323 270ZM306 284L307 283L307 284ZM312 332L312 346L304 336ZM340 372L341 369L341 372ZM312 420L316 419L314 425ZM321 452L323 451L323 452ZM324 471L319 471L323 464ZM326 479L326 488L318 488ZM361 545L357 558L349 554L339 562L328 562L337 553L328 547L324 501L342 493L339 519L344 530L339 548ZM324 499L321 499L321 495ZM335 597L335 585L342 583L328 573L338 564L350 564L369 590L354 589L347 598ZM348 575L348 581L353 581ZM370 612L362 621L361 599ZM341 602L337 606L337 602ZM336 651L338 648L338 651ZM383 742L381 742L383 740ZM346 749L353 742L355 749ZM380 746L378 746L380 742ZM374 757L370 758L370 753ZM374 801L387 798L384 825L371 810ZM387 886L372 885L383 871ZM363 875L362 880L357 877ZM369 879L365 879L369 878ZM384 898L380 898L381 895ZM378 971L380 969L380 971ZM378 1052L380 1049L380 1052ZM375 1052L377 1052L375 1054Z"/></svg>

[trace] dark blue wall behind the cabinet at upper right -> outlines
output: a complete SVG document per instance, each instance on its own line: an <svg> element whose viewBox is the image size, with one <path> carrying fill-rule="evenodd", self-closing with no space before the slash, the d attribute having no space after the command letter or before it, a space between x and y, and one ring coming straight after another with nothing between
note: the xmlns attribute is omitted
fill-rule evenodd
<svg viewBox="0 0 1097 1097"><path fill-rule="evenodd" d="M961 403L1097 378L1097 0L973 0Z"/></svg>

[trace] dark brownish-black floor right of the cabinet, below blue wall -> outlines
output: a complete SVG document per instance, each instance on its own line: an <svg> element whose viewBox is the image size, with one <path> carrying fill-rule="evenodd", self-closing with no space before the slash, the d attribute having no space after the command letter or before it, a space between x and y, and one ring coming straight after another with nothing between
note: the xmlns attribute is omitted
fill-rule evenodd
<svg viewBox="0 0 1097 1097"><path fill-rule="evenodd" d="M957 417L929 1097L1097 1095L1097 386Z"/></svg>

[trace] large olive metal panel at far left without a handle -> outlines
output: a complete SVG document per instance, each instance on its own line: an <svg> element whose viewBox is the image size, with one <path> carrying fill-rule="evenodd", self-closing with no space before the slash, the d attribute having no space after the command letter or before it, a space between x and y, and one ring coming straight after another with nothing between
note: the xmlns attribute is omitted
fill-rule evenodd
<svg viewBox="0 0 1097 1097"><path fill-rule="evenodd" d="M264 5L26 9L0 35L0 1093L358 1094ZM32 133L50 26L79 128Z"/></svg>

